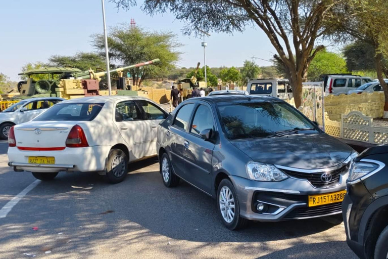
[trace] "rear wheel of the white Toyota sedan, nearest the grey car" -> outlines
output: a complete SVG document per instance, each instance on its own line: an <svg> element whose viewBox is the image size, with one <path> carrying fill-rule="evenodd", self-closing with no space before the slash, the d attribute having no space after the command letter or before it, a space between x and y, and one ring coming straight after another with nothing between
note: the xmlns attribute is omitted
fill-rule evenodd
<svg viewBox="0 0 388 259"><path fill-rule="evenodd" d="M122 182L128 174L128 158L121 149L109 151L106 179L109 183Z"/></svg>

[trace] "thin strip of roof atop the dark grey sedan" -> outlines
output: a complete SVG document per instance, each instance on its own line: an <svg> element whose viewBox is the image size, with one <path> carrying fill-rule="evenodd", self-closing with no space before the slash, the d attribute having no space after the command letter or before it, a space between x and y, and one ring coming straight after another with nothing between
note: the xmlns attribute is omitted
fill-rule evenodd
<svg viewBox="0 0 388 259"><path fill-rule="evenodd" d="M188 99L190 100L190 99ZM255 95L213 95L213 96L207 96L207 97L198 97L195 98L195 100L202 100L208 103L245 103L245 102L276 102L281 101L278 98L270 97L270 96L255 96Z"/></svg>

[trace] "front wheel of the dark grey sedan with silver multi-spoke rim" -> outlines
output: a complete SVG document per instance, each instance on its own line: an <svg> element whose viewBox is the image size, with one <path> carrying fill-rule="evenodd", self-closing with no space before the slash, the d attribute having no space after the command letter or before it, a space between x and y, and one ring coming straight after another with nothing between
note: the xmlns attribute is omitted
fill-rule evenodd
<svg viewBox="0 0 388 259"><path fill-rule="evenodd" d="M248 220L240 217L240 207L233 184L223 179L217 189L217 211L222 223L230 230L244 228Z"/></svg>

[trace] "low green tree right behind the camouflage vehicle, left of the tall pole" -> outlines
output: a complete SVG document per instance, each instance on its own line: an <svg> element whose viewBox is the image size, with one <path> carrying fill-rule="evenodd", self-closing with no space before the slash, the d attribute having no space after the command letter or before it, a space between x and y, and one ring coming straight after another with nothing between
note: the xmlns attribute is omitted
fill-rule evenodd
<svg viewBox="0 0 388 259"><path fill-rule="evenodd" d="M50 66L64 67L70 66L82 71L96 68L105 69L105 58L96 53L79 52L74 56L54 55L49 58Z"/></svg>

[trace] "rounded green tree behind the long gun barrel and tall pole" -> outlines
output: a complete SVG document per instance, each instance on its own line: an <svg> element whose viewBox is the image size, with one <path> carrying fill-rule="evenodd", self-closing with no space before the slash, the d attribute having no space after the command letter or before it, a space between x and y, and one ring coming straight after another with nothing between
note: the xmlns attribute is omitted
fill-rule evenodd
<svg viewBox="0 0 388 259"><path fill-rule="evenodd" d="M105 51L104 35L94 34L92 45L101 52ZM138 85L146 78L161 78L179 60L182 45L172 32L148 31L141 27L122 24L113 27L108 37L109 57L116 66L127 66L159 58L160 63L129 69L133 84Z"/></svg>

